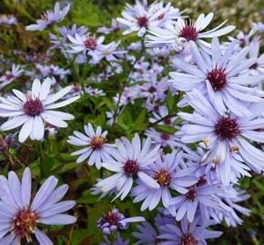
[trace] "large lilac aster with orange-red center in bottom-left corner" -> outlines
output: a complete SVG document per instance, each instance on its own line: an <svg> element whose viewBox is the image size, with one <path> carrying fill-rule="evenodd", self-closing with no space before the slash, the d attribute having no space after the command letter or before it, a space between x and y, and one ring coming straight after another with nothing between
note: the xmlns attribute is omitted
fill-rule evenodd
<svg viewBox="0 0 264 245"><path fill-rule="evenodd" d="M53 242L37 228L38 223L45 225L66 225L76 222L76 217L64 214L72 209L76 201L60 201L68 189L64 184L56 188L57 179L50 176L30 201L31 171L25 168L22 181L14 171L9 171L8 179L0 176L1 182L1 224L3 230L0 244L21 244L22 240L31 242L35 234L39 244L52 245Z"/></svg>

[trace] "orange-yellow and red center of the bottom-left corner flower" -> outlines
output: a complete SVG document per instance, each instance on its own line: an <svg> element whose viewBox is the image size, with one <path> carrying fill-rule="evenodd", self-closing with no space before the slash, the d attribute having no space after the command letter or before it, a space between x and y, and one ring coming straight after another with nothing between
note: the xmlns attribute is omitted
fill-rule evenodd
<svg viewBox="0 0 264 245"><path fill-rule="evenodd" d="M31 241L30 233L36 229L37 215L29 209L19 211L12 223L12 231L20 238L25 238L28 242Z"/></svg>

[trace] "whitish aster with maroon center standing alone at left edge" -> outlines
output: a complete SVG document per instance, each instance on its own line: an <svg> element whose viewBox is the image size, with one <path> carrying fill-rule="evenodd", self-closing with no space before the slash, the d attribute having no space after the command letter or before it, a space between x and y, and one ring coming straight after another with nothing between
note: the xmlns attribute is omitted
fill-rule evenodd
<svg viewBox="0 0 264 245"><path fill-rule="evenodd" d="M73 103L79 96L55 103L68 93L72 89L72 86L67 86L57 93L50 94L50 84L51 80L49 78L46 78L42 84L38 79L35 79L30 93L24 94L13 89L15 96L8 96L6 99L2 98L0 116L12 117L12 119L3 123L0 129L8 131L23 125L18 139L19 142L25 142L28 136L32 140L42 140L44 137L44 122L66 128L67 123L65 120L72 120L74 116L70 113L53 111L53 109Z"/></svg>

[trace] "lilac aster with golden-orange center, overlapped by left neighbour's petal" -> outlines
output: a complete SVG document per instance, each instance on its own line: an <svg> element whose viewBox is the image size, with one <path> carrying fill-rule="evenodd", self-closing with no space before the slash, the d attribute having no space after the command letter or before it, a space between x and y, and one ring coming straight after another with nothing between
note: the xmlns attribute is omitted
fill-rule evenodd
<svg viewBox="0 0 264 245"><path fill-rule="evenodd" d="M170 190L187 191L187 187L197 182L197 178L189 176L188 171L181 170L179 162L182 152L172 152L157 158L156 162L147 168L147 174L157 181L159 188L149 188L144 182L139 181L137 187L131 191L133 202L143 201L141 211L147 208L154 210L160 200L164 207L168 207L172 199Z"/></svg>

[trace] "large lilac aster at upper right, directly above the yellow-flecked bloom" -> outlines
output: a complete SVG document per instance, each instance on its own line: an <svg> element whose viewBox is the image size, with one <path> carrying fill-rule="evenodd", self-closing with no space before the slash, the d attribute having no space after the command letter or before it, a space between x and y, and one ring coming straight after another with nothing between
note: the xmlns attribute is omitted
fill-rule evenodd
<svg viewBox="0 0 264 245"><path fill-rule="evenodd" d="M245 59L249 49L242 49L239 54L231 57L234 44L229 44L224 54L221 54L218 38L212 41L211 55L199 51L196 44L190 42L190 49L195 63L188 64L179 58L174 60L183 73L169 73L172 85L180 91L191 91L196 88L206 94L218 111L224 113L229 109L239 116L250 116L247 103L260 103L264 93L248 85L254 85L264 79L264 75L239 75L247 70L256 59Z"/></svg>

